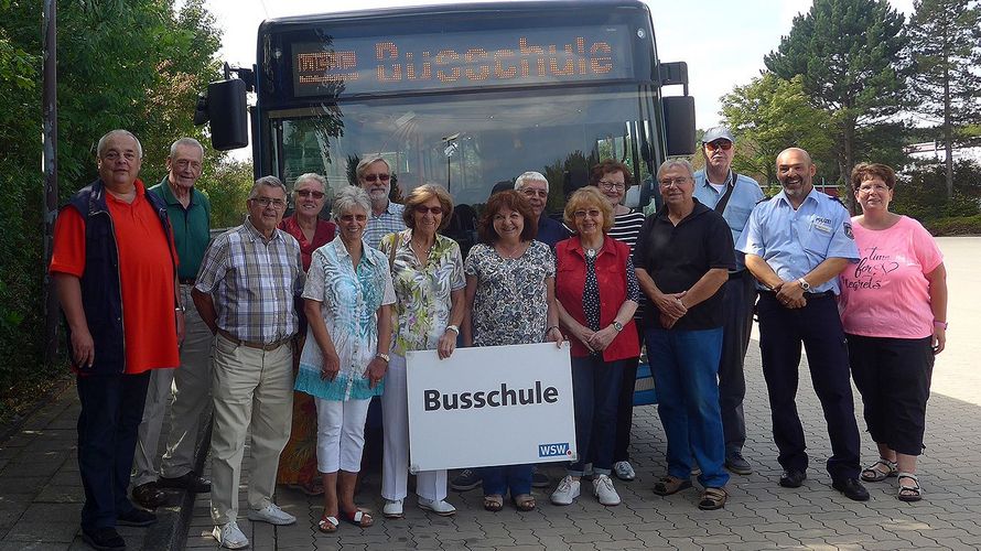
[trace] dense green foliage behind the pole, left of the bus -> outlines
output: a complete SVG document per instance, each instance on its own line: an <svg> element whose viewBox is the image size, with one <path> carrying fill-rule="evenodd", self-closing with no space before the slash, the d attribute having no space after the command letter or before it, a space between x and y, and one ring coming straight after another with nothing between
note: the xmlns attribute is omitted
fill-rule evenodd
<svg viewBox="0 0 981 551"><path fill-rule="evenodd" d="M163 175L170 143L204 138L197 90L218 76L219 33L204 0L60 2L58 188L62 201L96 177L94 150L114 128L141 140L142 177ZM0 0L0 398L50 374L42 364L43 197L41 2ZM64 366L53 366L64 372ZM15 385L14 385L15 383Z"/></svg>

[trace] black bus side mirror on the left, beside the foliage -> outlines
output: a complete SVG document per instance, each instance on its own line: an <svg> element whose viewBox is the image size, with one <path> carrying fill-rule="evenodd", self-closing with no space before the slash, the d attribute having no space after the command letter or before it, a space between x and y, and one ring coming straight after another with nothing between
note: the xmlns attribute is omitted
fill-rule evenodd
<svg viewBox="0 0 981 551"><path fill-rule="evenodd" d="M197 100L194 123L211 121L212 147L218 151L249 144L246 83L230 78L208 84L207 93Z"/></svg>

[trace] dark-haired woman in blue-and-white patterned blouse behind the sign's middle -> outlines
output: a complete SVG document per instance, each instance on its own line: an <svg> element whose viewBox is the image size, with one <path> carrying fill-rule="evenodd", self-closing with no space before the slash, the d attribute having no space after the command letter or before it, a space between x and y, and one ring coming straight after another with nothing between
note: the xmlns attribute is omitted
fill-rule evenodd
<svg viewBox="0 0 981 551"><path fill-rule="evenodd" d="M495 193L479 224L479 245L464 263L467 314L463 343L499 346L562 342L556 307L556 263L549 246L536 241L531 206L516 191ZM484 468L484 508L499 511L510 490L519 510L535 508L531 465Z"/></svg>

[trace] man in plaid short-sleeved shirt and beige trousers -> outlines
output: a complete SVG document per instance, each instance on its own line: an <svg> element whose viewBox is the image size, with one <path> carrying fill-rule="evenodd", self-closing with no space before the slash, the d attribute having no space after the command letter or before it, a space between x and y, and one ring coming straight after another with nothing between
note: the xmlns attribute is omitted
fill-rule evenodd
<svg viewBox="0 0 981 551"><path fill-rule="evenodd" d="M279 455L290 435L293 348L303 291L300 245L278 229L287 190L276 176L256 181L245 224L208 248L192 296L216 335L212 375L212 532L218 544L240 549L238 482L246 432L251 433L248 518L292 525L297 518L272 503Z"/></svg>

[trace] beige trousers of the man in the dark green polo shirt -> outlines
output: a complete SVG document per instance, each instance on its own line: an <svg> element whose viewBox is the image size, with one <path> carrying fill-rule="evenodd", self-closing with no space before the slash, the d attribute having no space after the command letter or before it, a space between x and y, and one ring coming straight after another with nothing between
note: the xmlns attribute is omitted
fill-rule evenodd
<svg viewBox="0 0 981 551"><path fill-rule="evenodd" d="M211 399L214 336L194 309L191 289L192 285L181 285L181 301L188 306L184 313L185 335L181 344L181 367L154 369L150 375L143 420L138 429L139 440L133 455L133 486L157 480L158 465L159 474L168 478L183 476L194 466L194 449L202 414ZM168 403L170 433L163 461L159 461L158 444Z"/></svg>

